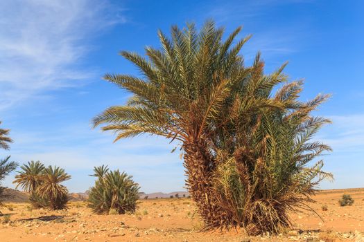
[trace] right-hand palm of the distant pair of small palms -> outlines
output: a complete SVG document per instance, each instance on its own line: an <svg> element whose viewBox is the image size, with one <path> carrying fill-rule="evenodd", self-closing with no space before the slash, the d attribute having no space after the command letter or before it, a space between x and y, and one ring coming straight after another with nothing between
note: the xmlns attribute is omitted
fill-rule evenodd
<svg viewBox="0 0 364 242"><path fill-rule="evenodd" d="M37 194L42 198L49 199L49 206L52 210L62 210L69 201L68 189L60 183L71 179L64 169L60 167L46 167L40 176L40 185L37 187Z"/></svg>

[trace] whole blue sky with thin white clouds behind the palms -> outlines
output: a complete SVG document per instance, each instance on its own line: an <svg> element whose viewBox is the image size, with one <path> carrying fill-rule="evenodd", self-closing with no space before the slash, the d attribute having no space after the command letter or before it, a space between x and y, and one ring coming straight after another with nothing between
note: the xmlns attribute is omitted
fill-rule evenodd
<svg viewBox="0 0 364 242"><path fill-rule="evenodd" d="M213 18L227 32L243 25L240 37L253 35L242 51L247 64L258 50L267 73L289 61L291 80L306 80L302 100L332 94L316 112L333 120L317 137L333 148L324 160L336 178L322 188L363 187L363 10L361 0L1 1L0 120L15 142L0 156L64 167L71 192L92 186L87 175L101 164L132 174L144 192L184 189L173 144L149 136L113 143L90 120L130 95L101 79L138 75L119 50L143 54L158 46L157 29ZM3 184L14 187L13 178Z"/></svg>

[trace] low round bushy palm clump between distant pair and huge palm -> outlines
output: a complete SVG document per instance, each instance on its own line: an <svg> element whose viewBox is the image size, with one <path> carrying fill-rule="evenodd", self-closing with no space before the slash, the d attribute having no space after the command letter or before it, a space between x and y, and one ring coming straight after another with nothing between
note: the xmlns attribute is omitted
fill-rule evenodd
<svg viewBox="0 0 364 242"><path fill-rule="evenodd" d="M89 207L96 214L125 214L135 212L139 185L125 172L109 171L107 166L94 167L97 178L89 191Z"/></svg>

